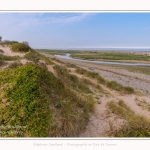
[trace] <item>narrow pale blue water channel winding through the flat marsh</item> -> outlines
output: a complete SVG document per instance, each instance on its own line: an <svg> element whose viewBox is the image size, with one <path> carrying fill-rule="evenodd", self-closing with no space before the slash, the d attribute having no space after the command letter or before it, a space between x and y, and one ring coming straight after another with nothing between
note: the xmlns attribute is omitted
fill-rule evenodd
<svg viewBox="0 0 150 150"><path fill-rule="evenodd" d="M143 64L143 63L126 63L126 62L111 62L111 61L101 61L101 60L83 60L83 59L76 59L70 57L69 53L66 53L66 55L55 55L58 58L62 59L69 59L69 60L76 60L81 62L90 62L90 63L96 63L96 64L112 64L112 65L126 65L126 66L150 66L150 64Z"/></svg>

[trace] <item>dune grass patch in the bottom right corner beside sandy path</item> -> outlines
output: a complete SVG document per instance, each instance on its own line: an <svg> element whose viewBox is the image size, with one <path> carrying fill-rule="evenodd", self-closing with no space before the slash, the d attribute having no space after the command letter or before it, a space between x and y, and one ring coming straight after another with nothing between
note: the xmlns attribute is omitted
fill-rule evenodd
<svg viewBox="0 0 150 150"><path fill-rule="evenodd" d="M121 129L113 131L114 137L150 137L150 120L136 115L122 100L108 102L108 108L116 115L127 120L127 124Z"/></svg>

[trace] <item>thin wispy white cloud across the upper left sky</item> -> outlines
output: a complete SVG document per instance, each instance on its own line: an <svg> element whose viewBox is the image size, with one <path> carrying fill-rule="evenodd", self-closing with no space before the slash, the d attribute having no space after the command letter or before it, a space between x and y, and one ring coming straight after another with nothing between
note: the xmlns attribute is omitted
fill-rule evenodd
<svg viewBox="0 0 150 150"><path fill-rule="evenodd" d="M68 24L82 21L92 13L2 13L1 23L10 26L13 30L25 27L34 27L43 24Z"/></svg>

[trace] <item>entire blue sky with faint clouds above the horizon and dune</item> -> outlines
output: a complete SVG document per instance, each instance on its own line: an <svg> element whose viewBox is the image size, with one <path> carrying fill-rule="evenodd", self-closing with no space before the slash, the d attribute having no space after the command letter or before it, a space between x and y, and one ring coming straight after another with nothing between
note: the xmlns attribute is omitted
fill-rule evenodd
<svg viewBox="0 0 150 150"><path fill-rule="evenodd" d="M150 13L0 12L0 35L32 48L150 47Z"/></svg>

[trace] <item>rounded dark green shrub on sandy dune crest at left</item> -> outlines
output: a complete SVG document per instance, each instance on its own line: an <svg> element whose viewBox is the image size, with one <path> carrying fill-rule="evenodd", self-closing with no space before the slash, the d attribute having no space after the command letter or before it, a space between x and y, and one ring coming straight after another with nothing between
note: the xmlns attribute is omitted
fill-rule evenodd
<svg viewBox="0 0 150 150"><path fill-rule="evenodd" d="M24 43L13 43L11 49L14 52L28 52L30 47Z"/></svg>

